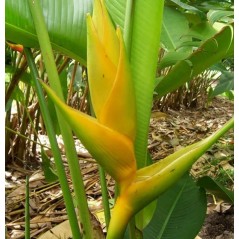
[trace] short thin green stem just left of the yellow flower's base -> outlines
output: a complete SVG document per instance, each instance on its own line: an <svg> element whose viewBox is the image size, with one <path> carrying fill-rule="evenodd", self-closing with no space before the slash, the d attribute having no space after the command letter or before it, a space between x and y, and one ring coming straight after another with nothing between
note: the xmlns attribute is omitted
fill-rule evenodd
<svg viewBox="0 0 239 239"><path fill-rule="evenodd" d="M108 189L107 189L107 184L105 179L105 171L101 166L99 166L99 172L100 172L100 185L101 185L101 193L102 193L103 207L104 207L104 214L105 214L105 223L106 223L106 228L108 229L110 224L110 207L109 207L109 200L108 200Z"/></svg>

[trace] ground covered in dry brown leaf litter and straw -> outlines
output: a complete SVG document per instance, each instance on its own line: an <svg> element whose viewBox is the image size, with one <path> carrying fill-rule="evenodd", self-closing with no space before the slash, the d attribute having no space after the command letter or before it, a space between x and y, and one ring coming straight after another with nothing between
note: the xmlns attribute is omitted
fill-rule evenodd
<svg viewBox="0 0 239 239"><path fill-rule="evenodd" d="M150 121L148 148L157 161L181 147L210 135L229 120L234 112L233 103L221 98L207 108L154 111ZM47 139L42 136L42 143ZM59 143L61 144L59 138ZM88 152L76 141L79 162L92 214L102 209L98 167ZM233 131L228 132L193 166L194 177L209 175L220 179L229 189L233 185ZM64 146L62 145L64 154ZM50 150L46 152L51 156ZM66 169L68 169L65 161ZM30 177L31 238L38 238L55 225L67 219L62 193L58 183L46 183L40 165L21 168L14 160L6 165L6 228L7 238L24 238L25 177ZM71 179L68 177L71 185ZM107 176L109 195L113 197L114 181ZM72 186L71 186L72 188ZM94 218L96 226L104 227ZM198 239L234 238L234 210L212 195L208 195L208 210Z"/></svg>

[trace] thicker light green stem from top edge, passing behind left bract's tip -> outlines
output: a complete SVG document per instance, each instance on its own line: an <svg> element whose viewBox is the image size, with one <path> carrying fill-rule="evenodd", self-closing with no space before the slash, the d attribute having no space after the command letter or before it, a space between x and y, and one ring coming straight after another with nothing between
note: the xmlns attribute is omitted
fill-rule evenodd
<svg viewBox="0 0 239 239"><path fill-rule="evenodd" d="M30 11L33 17L34 25L36 26L36 33L39 40L41 53L44 59L46 71L48 74L48 79L51 87L55 90L57 95L64 100L59 76L57 73L56 64L54 61L54 56L50 44L49 35L47 32L45 20L41 10L41 5L38 0L28 0ZM65 118L60 114L56 109L57 118L59 121L61 134L63 137L66 156L69 163L69 168L72 176L72 183L75 191L75 197L79 212L79 217L81 224L83 226L84 238L91 239L93 238L93 229L90 220L90 213L87 204L87 198L84 189L83 178L81 175L78 156L75 149L75 143L72 137L72 131L68 123L65 121ZM73 229L73 227L72 227ZM75 237L79 238L79 237Z"/></svg>

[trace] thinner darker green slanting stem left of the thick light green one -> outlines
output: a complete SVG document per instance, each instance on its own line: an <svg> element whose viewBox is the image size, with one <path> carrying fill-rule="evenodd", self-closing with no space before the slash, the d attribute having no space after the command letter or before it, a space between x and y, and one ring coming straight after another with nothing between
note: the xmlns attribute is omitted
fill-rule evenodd
<svg viewBox="0 0 239 239"><path fill-rule="evenodd" d="M38 79L38 72L37 72L37 68L32 56L32 53L29 49L25 48L25 54L26 54L26 58L28 61L28 65L29 68L31 70L31 74L32 74L32 78L33 78L33 82L35 85L35 89L37 92L37 96L38 96L38 100L39 100L39 105L40 105L40 109L41 109L41 113L44 119L44 123L46 126L46 130L47 130L47 134L49 137L49 141L51 144L51 149L52 149L52 153L54 156L54 160L55 160L55 165L56 165L56 170L57 170L57 174L59 177L59 182L61 185L61 189L62 189L62 193L63 193L63 198L66 204L66 210L68 213L68 217L69 217L69 222L72 228L72 235L74 238L81 238L81 234L80 234L80 229L78 226L78 220L77 220L77 216L75 213L75 208L74 208L74 203L71 197L71 191L68 185L68 181L66 178L66 173L65 173L65 169L64 169L64 165L61 159L61 153L60 150L58 148L57 145L57 141L56 141L56 137L55 137L55 132L54 132L54 127L52 124L52 120L50 118L50 113L48 111L46 102L45 102L45 97L41 88L41 85L39 83Z"/></svg>

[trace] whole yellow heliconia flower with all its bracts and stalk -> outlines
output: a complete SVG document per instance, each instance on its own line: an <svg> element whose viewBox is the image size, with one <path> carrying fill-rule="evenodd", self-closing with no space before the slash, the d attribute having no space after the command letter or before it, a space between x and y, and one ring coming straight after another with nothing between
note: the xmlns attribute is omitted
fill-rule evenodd
<svg viewBox="0 0 239 239"><path fill-rule="evenodd" d="M137 170L136 106L130 65L121 31L114 29L102 0L95 0L93 17L87 15L87 63L96 118L67 106L50 87L42 85L76 136L119 184L107 238L121 239L130 218L179 180L233 126L233 121L205 140Z"/></svg>

